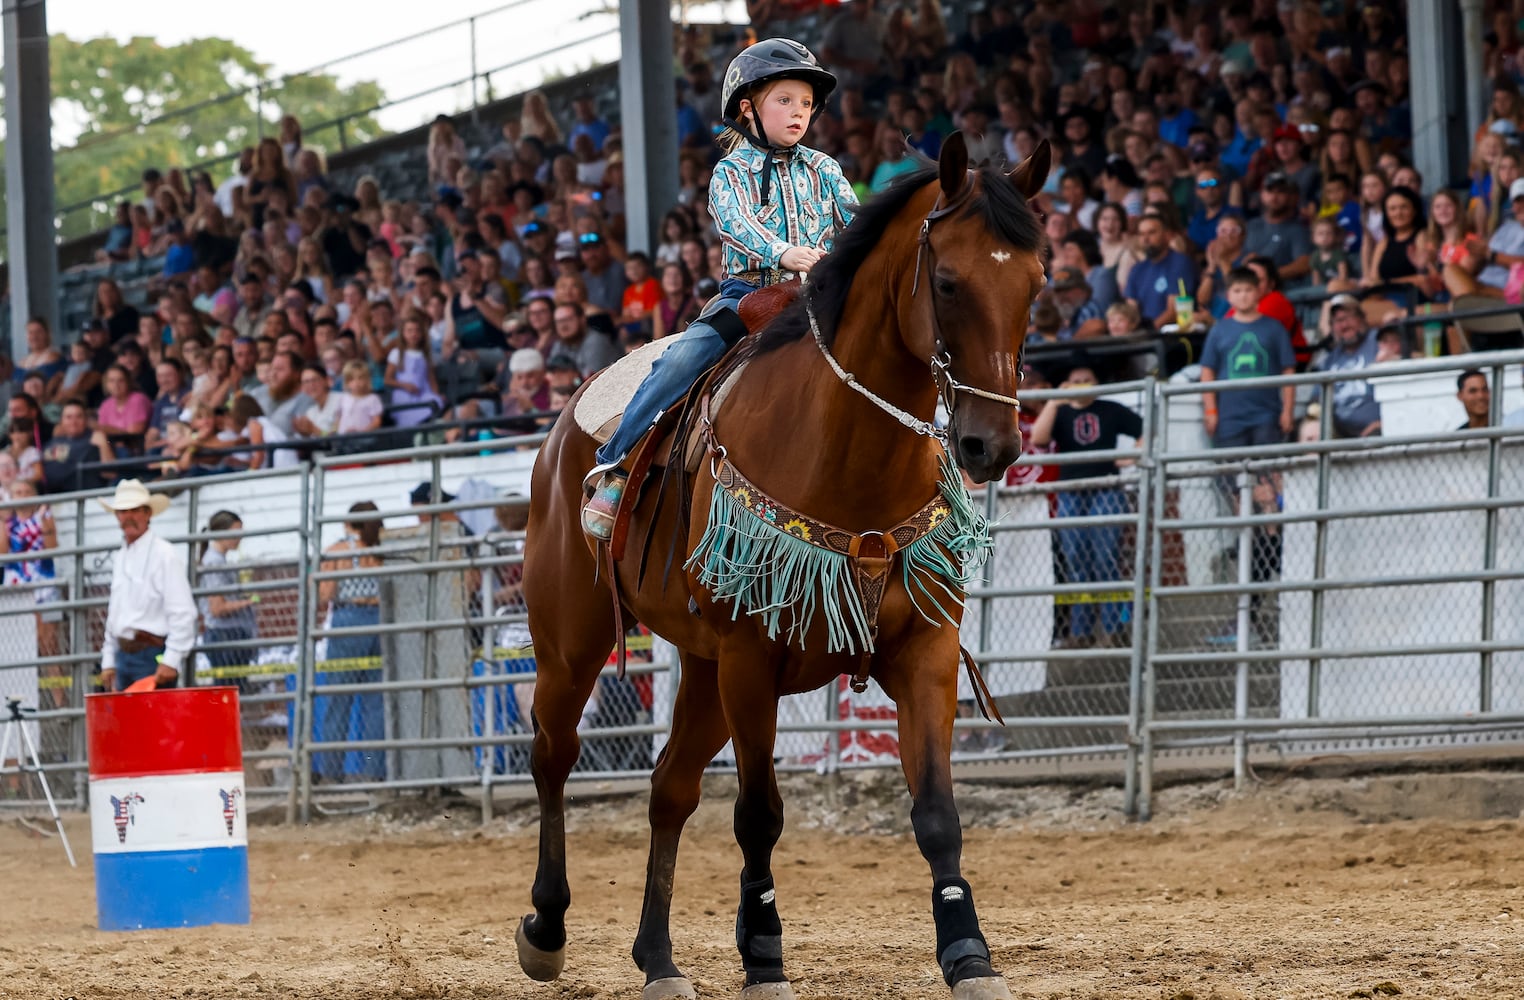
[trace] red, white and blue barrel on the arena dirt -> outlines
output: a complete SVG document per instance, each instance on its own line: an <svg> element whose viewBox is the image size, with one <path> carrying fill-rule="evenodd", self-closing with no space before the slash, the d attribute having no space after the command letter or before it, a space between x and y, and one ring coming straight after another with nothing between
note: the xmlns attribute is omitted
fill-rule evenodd
<svg viewBox="0 0 1524 1000"><path fill-rule="evenodd" d="M238 689L85 698L101 930L248 922Z"/></svg>

